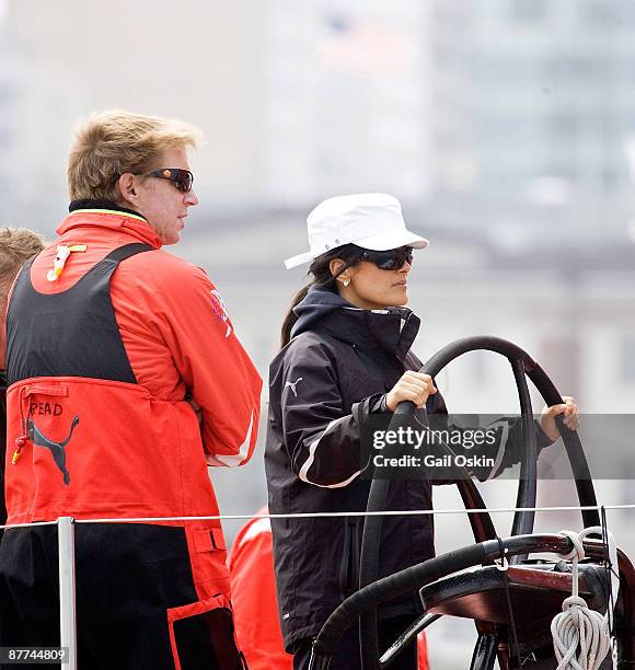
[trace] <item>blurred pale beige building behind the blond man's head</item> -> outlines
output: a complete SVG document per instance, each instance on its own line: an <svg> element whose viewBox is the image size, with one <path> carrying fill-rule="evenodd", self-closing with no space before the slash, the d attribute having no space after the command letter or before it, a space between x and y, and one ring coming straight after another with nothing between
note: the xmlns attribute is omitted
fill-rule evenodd
<svg viewBox="0 0 635 670"><path fill-rule="evenodd" d="M176 22L175 22L176 19ZM259 11L249 0L10 0L3 25L21 70L23 194L41 221L67 205L65 169L78 119L127 108L204 129L196 186L220 206L256 201Z"/></svg>

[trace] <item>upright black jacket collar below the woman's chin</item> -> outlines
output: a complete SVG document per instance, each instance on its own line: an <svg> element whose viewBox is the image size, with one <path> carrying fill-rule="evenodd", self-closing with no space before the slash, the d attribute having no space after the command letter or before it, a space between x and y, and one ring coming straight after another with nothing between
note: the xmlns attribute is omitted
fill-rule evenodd
<svg viewBox="0 0 635 670"><path fill-rule="evenodd" d="M315 331L360 349L383 349L403 361L419 325L419 317L407 308L370 311L343 307L323 316Z"/></svg>

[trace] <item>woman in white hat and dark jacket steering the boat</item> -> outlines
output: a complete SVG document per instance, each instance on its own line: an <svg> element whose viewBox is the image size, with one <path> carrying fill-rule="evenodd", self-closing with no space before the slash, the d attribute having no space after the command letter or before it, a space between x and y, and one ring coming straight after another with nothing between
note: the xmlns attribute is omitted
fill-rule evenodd
<svg viewBox="0 0 635 670"><path fill-rule="evenodd" d="M359 476L360 424L406 400L429 414L446 413L432 379L417 372L422 363L411 346L419 319L403 307L414 250L428 241L407 230L399 201L384 194L330 198L310 213L308 228L310 251L286 265L311 262L312 281L292 302L282 349L269 369L269 510L363 511L370 481ZM559 413L575 425L573 400L550 408L542 444L558 437L553 417ZM519 432L513 420L500 430L509 444L519 442ZM515 460L513 449L505 450L497 472ZM386 508L429 509L430 488L428 480L394 480ZM357 588L362 525L359 517L273 520L280 622L297 670L309 667L312 638ZM430 558L431 517L384 519L382 546L380 577ZM379 610L380 647L420 611L416 594L385 603ZM330 667L360 667L356 628ZM415 645L400 656L399 667L417 668Z"/></svg>

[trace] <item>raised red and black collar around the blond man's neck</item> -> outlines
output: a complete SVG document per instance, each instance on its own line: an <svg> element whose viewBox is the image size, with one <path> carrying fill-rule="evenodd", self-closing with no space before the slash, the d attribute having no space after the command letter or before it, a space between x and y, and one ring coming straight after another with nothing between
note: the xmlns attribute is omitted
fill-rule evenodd
<svg viewBox="0 0 635 670"><path fill-rule="evenodd" d="M70 213L56 230L58 235L72 228L88 226L127 233L154 249L162 246L161 239L147 219L109 200L73 200L69 211Z"/></svg>

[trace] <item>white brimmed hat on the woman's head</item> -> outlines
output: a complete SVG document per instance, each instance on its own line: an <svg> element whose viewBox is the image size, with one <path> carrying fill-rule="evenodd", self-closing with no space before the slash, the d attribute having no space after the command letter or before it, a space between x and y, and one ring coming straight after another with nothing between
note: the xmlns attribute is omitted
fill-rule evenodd
<svg viewBox="0 0 635 670"><path fill-rule="evenodd" d="M411 232L400 201L385 193L337 196L320 203L307 218L310 251L285 261L287 269L313 261L344 244L372 251L400 246L426 249L430 243Z"/></svg>

